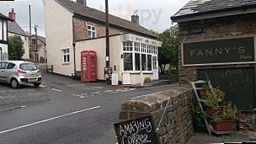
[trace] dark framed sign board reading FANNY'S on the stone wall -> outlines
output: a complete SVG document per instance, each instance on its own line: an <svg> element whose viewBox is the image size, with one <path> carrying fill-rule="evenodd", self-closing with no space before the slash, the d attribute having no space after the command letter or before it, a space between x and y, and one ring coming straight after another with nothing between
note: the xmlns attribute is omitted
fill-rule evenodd
<svg viewBox="0 0 256 144"><path fill-rule="evenodd" d="M254 37L184 43L184 67L255 63Z"/></svg>

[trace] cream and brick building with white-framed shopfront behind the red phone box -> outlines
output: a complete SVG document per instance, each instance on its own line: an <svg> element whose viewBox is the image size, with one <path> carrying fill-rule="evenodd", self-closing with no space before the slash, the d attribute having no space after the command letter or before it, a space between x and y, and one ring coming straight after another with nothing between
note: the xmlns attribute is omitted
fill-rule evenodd
<svg viewBox="0 0 256 144"><path fill-rule="evenodd" d="M96 51L97 78L105 80L105 13L84 4L44 0L47 63L53 65L54 72L71 76L81 71L81 52ZM119 81L123 80L123 72L129 72L131 84L139 83L141 71L144 77L158 79L157 48L161 41L156 35L140 24L112 15L109 15L109 35L110 67L118 74Z"/></svg>

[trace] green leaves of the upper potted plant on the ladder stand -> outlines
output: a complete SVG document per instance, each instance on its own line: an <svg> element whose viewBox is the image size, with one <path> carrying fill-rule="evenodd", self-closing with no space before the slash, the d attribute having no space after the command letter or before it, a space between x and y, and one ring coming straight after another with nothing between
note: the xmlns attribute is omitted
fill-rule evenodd
<svg viewBox="0 0 256 144"><path fill-rule="evenodd" d="M210 91L207 91L207 99L205 105L208 106L218 106L224 100L225 93L222 92L219 88L213 88Z"/></svg>

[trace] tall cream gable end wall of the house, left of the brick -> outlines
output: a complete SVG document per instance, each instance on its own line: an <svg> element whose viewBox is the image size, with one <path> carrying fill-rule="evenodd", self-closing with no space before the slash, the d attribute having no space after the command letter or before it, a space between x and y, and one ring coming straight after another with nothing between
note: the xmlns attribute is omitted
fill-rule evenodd
<svg viewBox="0 0 256 144"><path fill-rule="evenodd" d="M48 61L53 72L71 76L73 72L72 13L54 0L43 0L45 7L45 37ZM70 51L70 63L63 64L63 49Z"/></svg>

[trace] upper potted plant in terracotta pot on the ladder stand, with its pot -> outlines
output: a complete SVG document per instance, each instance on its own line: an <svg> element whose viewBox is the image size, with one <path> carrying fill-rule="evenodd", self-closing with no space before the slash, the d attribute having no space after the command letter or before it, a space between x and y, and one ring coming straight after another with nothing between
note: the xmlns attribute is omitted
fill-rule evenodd
<svg viewBox="0 0 256 144"><path fill-rule="evenodd" d="M219 103L224 100L225 93L219 88L213 88L207 91L207 99L205 100L205 107L207 115L214 115L218 112Z"/></svg>

